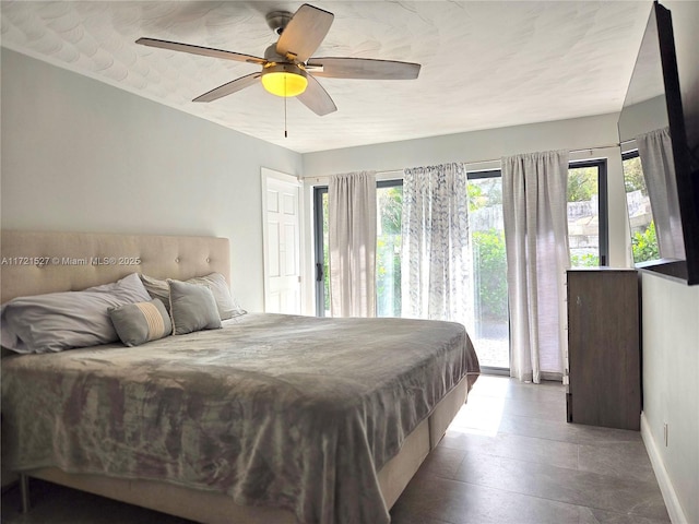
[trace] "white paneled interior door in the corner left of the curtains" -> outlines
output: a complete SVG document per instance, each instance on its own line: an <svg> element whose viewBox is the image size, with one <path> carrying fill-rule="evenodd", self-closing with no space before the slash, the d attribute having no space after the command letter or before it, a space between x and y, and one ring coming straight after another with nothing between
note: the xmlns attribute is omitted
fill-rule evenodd
<svg viewBox="0 0 699 524"><path fill-rule="evenodd" d="M264 310L300 314L300 183L262 168Z"/></svg>

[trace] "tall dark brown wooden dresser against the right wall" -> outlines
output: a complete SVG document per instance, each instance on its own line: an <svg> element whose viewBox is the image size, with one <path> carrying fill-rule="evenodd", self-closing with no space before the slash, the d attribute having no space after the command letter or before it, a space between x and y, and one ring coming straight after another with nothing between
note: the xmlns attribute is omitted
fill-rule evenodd
<svg viewBox="0 0 699 524"><path fill-rule="evenodd" d="M568 271L568 421L640 429L636 270Z"/></svg>

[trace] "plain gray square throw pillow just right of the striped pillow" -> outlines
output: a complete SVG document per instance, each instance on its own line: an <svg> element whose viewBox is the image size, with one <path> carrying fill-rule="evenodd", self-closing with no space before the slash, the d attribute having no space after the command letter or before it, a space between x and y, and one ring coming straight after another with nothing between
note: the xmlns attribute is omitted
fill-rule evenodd
<svg viewBox="0 0 699 524"><path fill-rule="evenodd" d="M176 335L221 327L221 317L211 289L170 278L167 284L170 288L173 332Z"/></svg>

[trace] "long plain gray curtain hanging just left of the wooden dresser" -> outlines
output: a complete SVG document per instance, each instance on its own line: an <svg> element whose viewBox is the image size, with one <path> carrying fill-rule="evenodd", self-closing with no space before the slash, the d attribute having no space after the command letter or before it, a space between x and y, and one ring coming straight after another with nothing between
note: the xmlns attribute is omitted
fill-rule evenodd
<svg viewBox="0 0 699 524"><path fill-rule="evenodd" d="M568 156L558 151L502 158L510 376L522 381L562 377Z"/></svg>

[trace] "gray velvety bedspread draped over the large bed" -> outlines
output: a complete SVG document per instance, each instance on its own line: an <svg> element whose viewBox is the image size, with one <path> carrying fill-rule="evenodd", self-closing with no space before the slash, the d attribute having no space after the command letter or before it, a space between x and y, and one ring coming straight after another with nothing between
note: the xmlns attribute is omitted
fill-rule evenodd
<svg viewBox="0 0 699 524"><path fill-rule="evenodd" d="M390 521L377 471L478 362L462 325L247 314L139 347L2 361L4 466L147 478Z"/></svg>

